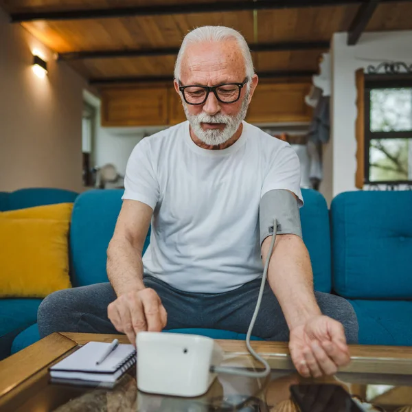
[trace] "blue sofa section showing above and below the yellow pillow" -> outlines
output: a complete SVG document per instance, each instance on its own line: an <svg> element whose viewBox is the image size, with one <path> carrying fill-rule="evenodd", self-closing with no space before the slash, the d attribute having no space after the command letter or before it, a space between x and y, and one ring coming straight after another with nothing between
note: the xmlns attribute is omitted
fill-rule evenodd
<svg viewBox="0 0 412 412"><path fill-rule="evenodd" d="M0 211L55 203L72 203L78 194L69 190L33 188L0 192ZM0 299L0 359L10 354L14 337L36 323L41 299Z"/></svg>

